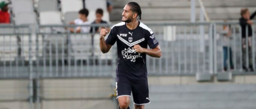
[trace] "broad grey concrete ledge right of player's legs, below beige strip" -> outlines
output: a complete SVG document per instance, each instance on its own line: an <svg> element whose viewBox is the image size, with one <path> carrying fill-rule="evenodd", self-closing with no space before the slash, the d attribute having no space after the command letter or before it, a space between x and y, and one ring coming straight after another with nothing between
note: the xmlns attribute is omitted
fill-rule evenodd
<svg viewBox="0 0 256 109"><path fill-rule="evenodd" d="M147 109L255 109L256 85L150 85Z"/></svg>

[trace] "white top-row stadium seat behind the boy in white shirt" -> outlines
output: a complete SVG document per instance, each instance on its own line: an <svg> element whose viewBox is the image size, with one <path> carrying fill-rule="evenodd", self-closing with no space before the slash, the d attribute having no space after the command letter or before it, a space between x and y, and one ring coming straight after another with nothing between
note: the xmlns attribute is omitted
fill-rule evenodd
<svg viewBox="0 0 256 109"><path fill-rule="evenodd" d="M82 0L61 0L61 12L63 14L70 11L78 12L83 8L82 4Z"/></svg>

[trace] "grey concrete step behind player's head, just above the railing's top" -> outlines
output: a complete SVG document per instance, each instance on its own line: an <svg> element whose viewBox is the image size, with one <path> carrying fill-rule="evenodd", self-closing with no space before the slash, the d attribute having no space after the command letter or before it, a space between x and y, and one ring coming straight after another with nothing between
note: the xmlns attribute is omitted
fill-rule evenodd
<svg viewBox="0 0 256 109"><path fill-rule="evenodd" d="M206 7L206 11L211 20L221 19L239 19L241 7ZM251 13L255 11L254 7L248 7ZM122 8L115 8L110 17L112 21L121 21ZM196 9L196 19L199 19L200 9ZM187 8L142 8L143 20L189 20L190 7Z"/></svg>

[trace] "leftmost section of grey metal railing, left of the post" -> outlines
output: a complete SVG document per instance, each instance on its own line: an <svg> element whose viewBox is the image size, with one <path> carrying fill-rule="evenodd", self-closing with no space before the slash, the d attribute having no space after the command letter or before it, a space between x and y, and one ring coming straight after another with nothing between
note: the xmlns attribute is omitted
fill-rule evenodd
<svg viewBox="0 0 256 109"><path fill-rule="evenodd" d="M29 26L0 26L0 78L28 78L32 71L32 30Z"/></svg>

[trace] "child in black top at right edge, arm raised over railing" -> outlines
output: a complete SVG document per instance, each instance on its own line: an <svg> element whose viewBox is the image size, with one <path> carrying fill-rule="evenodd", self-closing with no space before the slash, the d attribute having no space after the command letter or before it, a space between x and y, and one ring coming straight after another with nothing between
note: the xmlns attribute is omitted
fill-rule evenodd
<svg viewBox="0 0 256 109"><path fill-rule="evenodd" d="M242 52L243 52L243 69L245 71L248 71L248 68L246 66L246 48L248 47L248 53L249 53L249 69L251 71L253 70L253 63L252 63L252 43L251 43L251 37L252 37L252 29L251 29L251 25L253 24L253 21L251 21L251 19L253 19L256 16L256 11L250 15L250 12L248 10L248 8L244 8L241 10L240 12L241 14L241 18L239 19L240 22L240 26L242 27ZM248 46L246 46L246 27L248 29Z"/></svg>

